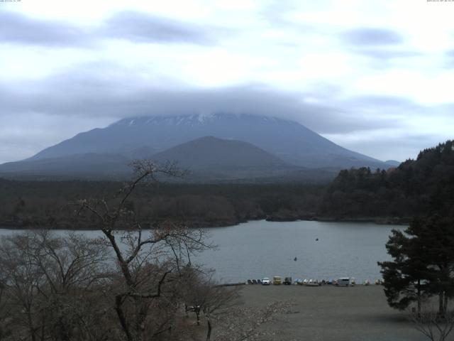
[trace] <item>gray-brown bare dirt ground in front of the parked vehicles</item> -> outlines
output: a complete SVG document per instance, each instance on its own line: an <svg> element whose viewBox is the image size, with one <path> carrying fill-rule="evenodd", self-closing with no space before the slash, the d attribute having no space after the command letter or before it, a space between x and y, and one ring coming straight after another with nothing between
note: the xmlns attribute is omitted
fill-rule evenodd
<svg viewBox="0 0 454 341"><path fill-rule="evenodd" d="M423 341L408 314L389 308L382 286L243 286L245 305L262 307L290 300L293 313L277 316L264 328L277 340Z"/></svg>

